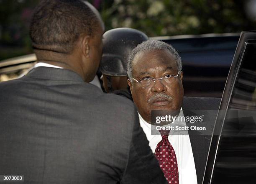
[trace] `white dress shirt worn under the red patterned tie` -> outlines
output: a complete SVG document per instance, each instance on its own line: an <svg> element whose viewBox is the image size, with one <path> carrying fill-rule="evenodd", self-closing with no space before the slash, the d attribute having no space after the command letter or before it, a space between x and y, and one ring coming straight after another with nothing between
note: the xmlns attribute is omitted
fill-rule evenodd
<svg viewBox="0 0 256 184"><path fill-rule="evenodd" d="M152 152L155 153L156 145L159 143L159 141L162 140L161 134L158 130L156 130L156 128L152 128L152 130L156 131L155 133L152 133L155 135L152 135L151 126L154 125L147 123L145 120L143 120L140 114L138 115L141 128L143 129L149 141L149 146ZM179 113L179 116L183 116L182 109ZM182 122L179 122L179 124L182 124ZM183 124L185 125L186 123L183 122ZM184 133L184 135L171 130L168 136L168 140L172 144L172 147L174 148L177 157L179 169L179 184L197 184L195 162L189 135L187 132L184 131L182 131L182 133Z"/></svg>

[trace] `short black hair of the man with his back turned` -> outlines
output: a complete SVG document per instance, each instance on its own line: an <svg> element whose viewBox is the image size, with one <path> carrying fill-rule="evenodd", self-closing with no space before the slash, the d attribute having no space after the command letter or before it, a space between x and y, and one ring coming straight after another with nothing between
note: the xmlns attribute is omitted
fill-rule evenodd
<svg viewBox="0 0 256 184"><path fill-rule="evenodd" d="M69 54L82 34L93 36L98 18L82 0L42 0L31 20L33 49Z"/></svg>

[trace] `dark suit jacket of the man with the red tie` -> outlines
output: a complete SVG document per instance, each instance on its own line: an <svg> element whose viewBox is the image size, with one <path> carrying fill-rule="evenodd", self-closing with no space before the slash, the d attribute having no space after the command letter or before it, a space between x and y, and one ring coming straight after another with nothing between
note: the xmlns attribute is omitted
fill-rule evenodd
<svg viewBox="0 0 256 184"><path fill-rule="evenodd" d="M197 98L184 97L182 110L184 116L193 116L194 113L199 112L208 114L207 122L203 124L207 129L207 134L200 135L200 132L189 130L189 139L192 147L192 152L195 161L195 168L197 173L197 184L202 184L203 175L205 172L205 164L209 151L211 133L214 127L215 119L220 106L220 98ZM193 124L187 122L187 126Z"/></svg>

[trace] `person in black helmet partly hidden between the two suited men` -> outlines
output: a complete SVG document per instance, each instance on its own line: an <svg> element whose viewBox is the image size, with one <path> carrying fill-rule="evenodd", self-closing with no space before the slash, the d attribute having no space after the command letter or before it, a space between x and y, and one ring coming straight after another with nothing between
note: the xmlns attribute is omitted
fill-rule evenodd
<svg viewBox="0 0 256 184"><path fill-rule="evenodd" d="M128 56L139 43L147 40L146 34L132 28L115 28L104 33L100 71L106 92L131 99L127 84Z"/></svg>

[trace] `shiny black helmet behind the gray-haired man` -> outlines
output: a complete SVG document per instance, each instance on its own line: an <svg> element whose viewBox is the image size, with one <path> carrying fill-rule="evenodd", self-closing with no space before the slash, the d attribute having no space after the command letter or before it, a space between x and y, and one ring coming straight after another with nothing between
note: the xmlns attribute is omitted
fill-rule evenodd
<svg viewBox="0 0 256 184"><path fill-rule="evenodd" d="M103 35L103 54L100 70L115 77L127 76L127 59L131 51L148 36L132 28L115 28Z"/></svg>

